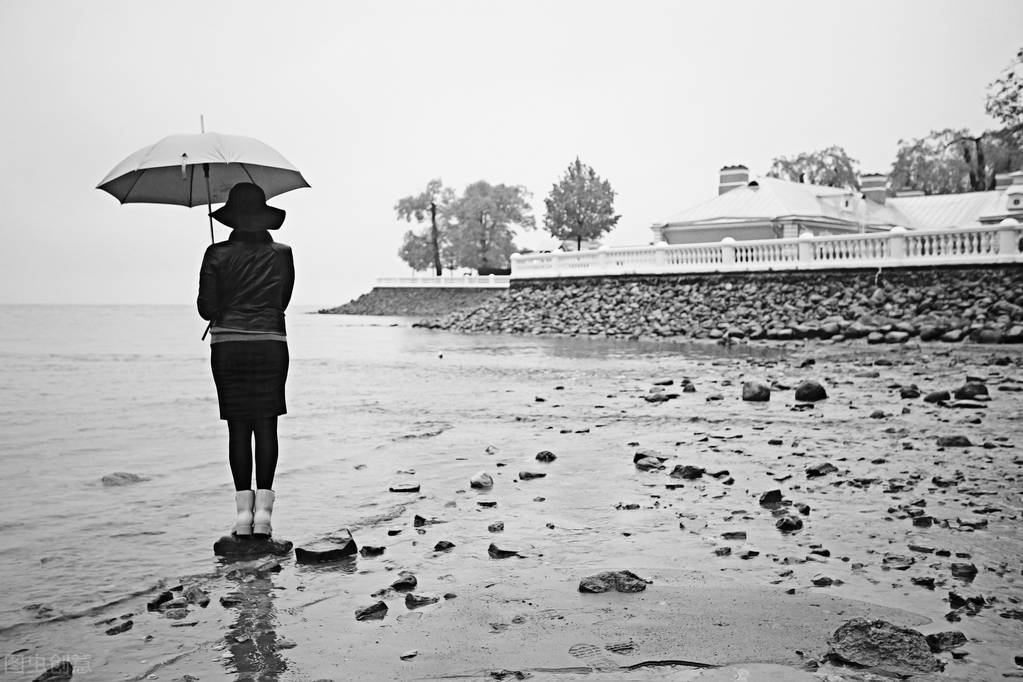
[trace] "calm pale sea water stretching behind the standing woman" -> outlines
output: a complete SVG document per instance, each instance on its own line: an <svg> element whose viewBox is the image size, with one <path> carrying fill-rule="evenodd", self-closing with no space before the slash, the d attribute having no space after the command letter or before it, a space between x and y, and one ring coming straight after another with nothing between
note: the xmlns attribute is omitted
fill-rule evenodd
<svg viewBox="0 0 1023 682"><path fill-rule="evenodd" d="M652 359L679 354L312 312L287 318L275 526L293 537L335 530L386 491L387 482L346 475L352 466L455 425L475 452L491 444L483 424L509 418L509 399L528 405L541 388L648 371ZM0 638L208 570L212 541L231 524L233 490L194 310L5 306L0 314ZM430 467L431 457L450 454L424 448L411 457ZM117 472L142 481L104 485Z"/></svg>

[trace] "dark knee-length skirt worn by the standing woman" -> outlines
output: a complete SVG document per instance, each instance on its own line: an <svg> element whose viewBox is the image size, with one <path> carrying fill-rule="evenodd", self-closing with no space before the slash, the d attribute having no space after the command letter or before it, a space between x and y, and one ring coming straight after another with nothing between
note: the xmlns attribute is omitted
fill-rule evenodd
<svg viewBox="0 0 1023 682"><path fill-rule="evenodd" d="M221 419L263 419L287 413L287 344L252 340L210 345Z"/></svg>

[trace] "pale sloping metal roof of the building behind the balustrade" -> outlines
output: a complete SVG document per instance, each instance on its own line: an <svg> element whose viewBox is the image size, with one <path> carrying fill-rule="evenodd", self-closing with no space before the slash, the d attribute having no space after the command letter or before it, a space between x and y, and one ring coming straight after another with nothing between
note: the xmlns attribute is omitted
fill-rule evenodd
<svg viewBox="0 0 1023 682"><path fill-rule="evenodd" d="M1018 188L1019 185L1011 187ZM969 227L1009 214L1007 190L900 196L879 203L857 190L825 187L777 178L757 178L710 200L668 217L657 225L709 227L755 221L803 218L849 226L917 230Z"/></svg>

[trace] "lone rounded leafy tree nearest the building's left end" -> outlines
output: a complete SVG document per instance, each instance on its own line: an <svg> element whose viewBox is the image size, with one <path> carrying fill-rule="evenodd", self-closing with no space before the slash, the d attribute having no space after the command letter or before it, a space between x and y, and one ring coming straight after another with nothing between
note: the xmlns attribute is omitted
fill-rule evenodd
<svg viewBox="0 0 1023 682"><path fill-rule="evenodd" d="M543 199L547 214L543 224L558 239L575 239L582 251L583 239L596 239L618 224L615 190L579 157L569 165L561 181Z"/></svg>

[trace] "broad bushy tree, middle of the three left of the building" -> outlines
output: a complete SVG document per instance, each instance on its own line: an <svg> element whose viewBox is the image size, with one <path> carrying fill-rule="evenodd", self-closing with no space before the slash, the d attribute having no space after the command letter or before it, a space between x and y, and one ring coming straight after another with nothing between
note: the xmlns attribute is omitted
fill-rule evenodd
<svg viewBox="0 0 1023 682"><path fill-rule="evenodd" d="M506 268L515 253L516 227L535 227L527 201L529 192L517 185L491 185L480 180L449 207L450 235L456 263L465 268Z"/></svg>

